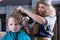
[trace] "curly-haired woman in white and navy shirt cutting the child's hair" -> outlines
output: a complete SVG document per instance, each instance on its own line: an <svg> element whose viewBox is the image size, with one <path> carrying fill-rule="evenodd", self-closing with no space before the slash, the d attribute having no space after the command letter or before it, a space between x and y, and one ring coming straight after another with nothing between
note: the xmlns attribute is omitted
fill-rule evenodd
<svg viewBox="0 0 60 40"><path fill-rule="evenodd" d="M38 40L51 40L56 21L56 11L52 5L38 2L33 13L19 6L16 8L39 23Z"/></svg>

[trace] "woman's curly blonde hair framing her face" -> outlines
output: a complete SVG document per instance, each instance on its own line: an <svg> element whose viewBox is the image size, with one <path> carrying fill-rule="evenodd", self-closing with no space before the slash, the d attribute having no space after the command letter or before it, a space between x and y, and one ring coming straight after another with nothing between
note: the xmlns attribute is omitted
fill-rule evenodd
<svg viewBox="0 0 60 40"><path fill-rule="evenodd" d="M38 13L39 13L38 12L38 7L39 7L39 4L40 3L41 4L44 4L47 7L47 10L46 10L45 14L44 15L41 15L41 16L45 17L45 16L49 16L53 12L56 13L56 10L55 10L55 8L52 5L48 5L48 4L42 3L42 2L37 2L36 7L33 9L33 13L35 13L35 14L38 15Z"/></svg>

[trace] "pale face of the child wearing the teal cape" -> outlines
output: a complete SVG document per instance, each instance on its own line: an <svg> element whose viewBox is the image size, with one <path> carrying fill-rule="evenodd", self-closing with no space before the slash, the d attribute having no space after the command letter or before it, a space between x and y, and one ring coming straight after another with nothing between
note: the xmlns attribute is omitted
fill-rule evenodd
<svg viewBox="0 0 60 40"><path fill-rule="evenodd" d="M9 27L10 31L17 32L20 30L20 28L22 26L18 23L18 21L16 19L14 19L13 17L9 17L8 27Z"/></svg>

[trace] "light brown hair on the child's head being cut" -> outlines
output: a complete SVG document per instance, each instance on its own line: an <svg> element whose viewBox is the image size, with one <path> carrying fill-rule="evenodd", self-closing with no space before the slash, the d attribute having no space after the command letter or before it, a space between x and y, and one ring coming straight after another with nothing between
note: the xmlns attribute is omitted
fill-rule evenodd
<svg viewBox="0 0 60 40"><path fill-rule="evenodd" d="M22 18L24 17L22 15L22 12L14 9L13 12L11 13L11 15L8 17L8 20L10 17L13 17L14 19L16 19L20 25L22 25Z"/></svg>

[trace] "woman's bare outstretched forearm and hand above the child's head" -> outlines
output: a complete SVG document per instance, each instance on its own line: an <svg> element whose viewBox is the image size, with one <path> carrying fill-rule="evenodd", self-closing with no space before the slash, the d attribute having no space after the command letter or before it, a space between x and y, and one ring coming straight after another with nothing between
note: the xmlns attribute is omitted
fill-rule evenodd
<svg viewBox="0 0 60 40"><path fill-rule="evenodd" d="M36 15L34 13L29 12L28 10L24 9L23 7L19 6L17 7L17 10L21 10L25 14L27 14L29 17L31 17L34 21L40 23L40 24L45 24L46 21L43 17Z"/></svg>

